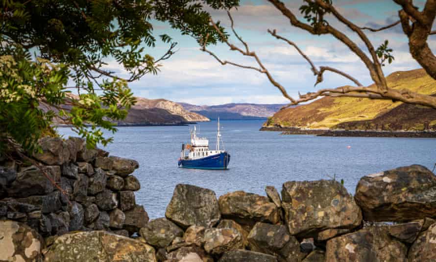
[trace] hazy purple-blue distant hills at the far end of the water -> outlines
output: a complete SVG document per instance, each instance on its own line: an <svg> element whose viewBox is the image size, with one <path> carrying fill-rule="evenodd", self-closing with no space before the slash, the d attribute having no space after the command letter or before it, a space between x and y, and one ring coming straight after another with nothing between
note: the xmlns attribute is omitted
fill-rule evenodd
<svg viewBox="0 0 436 262"><path fill-rule="evenodd" d="M186 110L204 115L212 120L255 120L266 119L277 112L282 104L224 104L224 105L191 105L179 103Z"/></svg>

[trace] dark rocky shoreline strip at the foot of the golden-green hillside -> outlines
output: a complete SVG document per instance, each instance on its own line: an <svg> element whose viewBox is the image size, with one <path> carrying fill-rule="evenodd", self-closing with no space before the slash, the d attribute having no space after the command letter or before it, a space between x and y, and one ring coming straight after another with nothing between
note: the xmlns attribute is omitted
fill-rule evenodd
<svg viewBox="0 0 436 262"><path fill-rule="evenodd" d="M310 134L316 136L436 138L436 131L306 130L287 127L262 127L260 131L279 131L282 132L280 134Z"/></svg>

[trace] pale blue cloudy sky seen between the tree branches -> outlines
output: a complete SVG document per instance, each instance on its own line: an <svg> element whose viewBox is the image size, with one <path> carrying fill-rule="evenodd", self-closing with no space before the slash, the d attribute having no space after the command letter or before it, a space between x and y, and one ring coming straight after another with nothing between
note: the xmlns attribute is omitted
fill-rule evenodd
<svg viewBox="0 0 436 262"><path fill-rule="evenodd" d="M301 21L304 21L298 11L302 0L284 2ZM333 3L353 23L375 28L397 21L400 9L392 0L333 0ZM423 1L415 0L414 4L422 6ZM225 12L207 10L210 10L214 21L221 21L223 26L228 28L227 31L230 31L229 19ZM363 85L372 83L363 62L344 44L332 36L314 36L291 26L289 20L267 1L243 0L241 6L230 12L238 34L247 42L250 50L258 54L273 78L293 97L297 97L298 92L306 93L318 88L353 85L353 82L327 72L324 73L324 81L314 87L316 79L309 64L293 47L269 35L267 29L276 29L278 34L295 42L312 59L316 67L331 66L352 75ZM363 42L350 29L338 23L334 17L327 17L327 20L364 49ZM155 35L166 33L178 43L177 52L161 63L162 67L158 75L146 75L129 84L135 96L149 99L164 98L195 105L288 102L268 81L265 74L231 65L222 66L211 55L201 52L192 37L181 35L179 31L171 29L170 25L165 23L152 21L152 24ZM407 37L403 34L401 25L376 33L365 32L375 48L385 39L389 40L389 47L393 49L395 60L383 68L385 75L395 71L420 68L408 52ZM231 35L230 42L242 47L234 35ZM428 43L430 47L435 47L436 51L436 35L430 36ZM156 47L147 52L157 58L167 49L168 44L158 41ZM230 51L225 44L218 44L209 49L222 60L257 66L252 58L242 57L240 53ZM118 72L120 76L124 75L122 67L116 61L109 61L107 68Z"/></svg>

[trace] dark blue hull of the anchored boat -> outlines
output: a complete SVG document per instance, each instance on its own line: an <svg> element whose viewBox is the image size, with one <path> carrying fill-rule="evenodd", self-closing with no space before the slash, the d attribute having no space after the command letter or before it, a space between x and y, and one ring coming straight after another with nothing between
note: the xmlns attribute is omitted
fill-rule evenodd
<svg viewBox="0 0 436 262"><path fill-rule="evenodd" d="M230 162L230 155L227 152L193 160L179 160L179 165L185 168L199 169L227 169Z"/></svg>

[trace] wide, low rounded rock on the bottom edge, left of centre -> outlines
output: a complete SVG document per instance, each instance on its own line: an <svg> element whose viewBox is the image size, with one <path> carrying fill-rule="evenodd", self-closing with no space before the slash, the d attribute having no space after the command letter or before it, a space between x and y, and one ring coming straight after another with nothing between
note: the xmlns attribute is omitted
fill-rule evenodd
<svg viewBox="0 0 436 262"><path fill-rule="evenodd" d="M65 234L45 254L46 262L156 262L154 248L104 231Z"/></svg>

